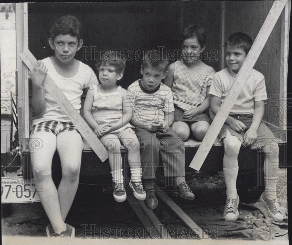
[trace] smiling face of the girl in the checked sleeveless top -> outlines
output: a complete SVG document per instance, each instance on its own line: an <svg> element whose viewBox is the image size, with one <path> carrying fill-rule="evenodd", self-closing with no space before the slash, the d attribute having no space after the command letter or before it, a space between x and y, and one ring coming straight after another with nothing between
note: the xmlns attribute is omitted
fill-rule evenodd
<svg viewBox="0 0 292 245"><path fill-rule="evenodd" d="M201 47L196 37L185 39L182 45L183 60L188 63L199 61L204 49L205 46Z"/></svg>

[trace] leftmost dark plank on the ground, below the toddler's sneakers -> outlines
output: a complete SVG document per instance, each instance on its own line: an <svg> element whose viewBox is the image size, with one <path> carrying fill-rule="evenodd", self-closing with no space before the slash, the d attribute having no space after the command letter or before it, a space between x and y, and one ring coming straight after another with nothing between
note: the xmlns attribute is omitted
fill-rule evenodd
<svg viewBox="0 0 292 245"><path fill-rule="evenodd" d="M131 207L134 210L134 212L137 214L139 220L144 225L144 227L147 228L148 231L151 229L150 230L150 234L148 234L148 235L150 235L150 237L153 237L153 238L154 237L155 238L159 237L158 233L154 229L152 229L153 228L153 223L148 218L147 214L142 209L142 207L138 203L137 199L134 197L133 193L128 193L127 194L127 201L131 205Z"/></svg>

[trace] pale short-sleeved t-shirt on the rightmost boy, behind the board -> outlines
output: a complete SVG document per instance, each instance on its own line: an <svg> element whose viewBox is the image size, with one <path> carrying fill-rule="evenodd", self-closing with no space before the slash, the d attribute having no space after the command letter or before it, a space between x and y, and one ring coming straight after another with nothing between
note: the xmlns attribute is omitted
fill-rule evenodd
<svg viewBox="0 0 292 245"><path fill-rule="evenodd" d="M228 67L216 72L213 75L209 94L221 98L221 104L228 95L236 75ZM261 101L267 99L265 77L260 72L252 69L244 87L239 93L235 101L230 115L236 114L250 114L254 112L254 101Z"/></svg>

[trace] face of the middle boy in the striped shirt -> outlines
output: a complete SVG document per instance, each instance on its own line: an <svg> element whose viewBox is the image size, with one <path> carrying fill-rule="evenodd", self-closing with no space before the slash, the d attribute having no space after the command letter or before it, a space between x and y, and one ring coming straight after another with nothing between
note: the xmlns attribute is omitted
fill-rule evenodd
<svg viewBox="0 0 292 245"><path fill-rule="evenodd" d="M166 77L167 71L164 73L153 67L145 67L144 69L141 67L141 74L143 75L142 86L148 91L153 91Z"/></svg>

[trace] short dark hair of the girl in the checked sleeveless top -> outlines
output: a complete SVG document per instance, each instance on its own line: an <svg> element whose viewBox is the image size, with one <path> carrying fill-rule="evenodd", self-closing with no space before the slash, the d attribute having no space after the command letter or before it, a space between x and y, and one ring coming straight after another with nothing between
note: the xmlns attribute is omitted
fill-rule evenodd
<svg viewBox="0 0 292 245"><path fill-rule="evenodd" d="M205 29L199 25L189 25L183 29L180 33L179 43L180 46L183 45L183 42L188 38L197 38L198 43L201 47L206 46L206 32Z"/></svg>

